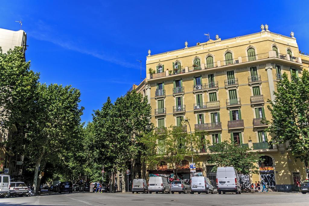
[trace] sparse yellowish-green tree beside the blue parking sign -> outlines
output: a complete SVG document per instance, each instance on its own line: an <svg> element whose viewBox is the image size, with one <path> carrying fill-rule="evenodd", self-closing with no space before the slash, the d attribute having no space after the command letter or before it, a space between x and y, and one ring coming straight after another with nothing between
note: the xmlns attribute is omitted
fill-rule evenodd
<svg viewBox="0 0 309 206"><path fill-rule="evenodd" d="M173 169L175 178L181 169L181 162L185 158L196 159L201 148L201 139L197 133L190 135L183 126L159 128L158 132L146 133L141 141L146 145L147 165L155 167L160 161L165 161Z"/></svg>

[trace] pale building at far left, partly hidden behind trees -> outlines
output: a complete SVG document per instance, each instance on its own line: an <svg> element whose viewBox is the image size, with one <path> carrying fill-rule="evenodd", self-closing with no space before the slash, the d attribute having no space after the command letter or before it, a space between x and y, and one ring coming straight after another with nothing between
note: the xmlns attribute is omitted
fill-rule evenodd
<svg viewBox="0 0 309 206"><path fill-rule="evenodd" d="M0 28L0 47L3 53L6 53L9 49L14 49L15 46L21 46L23 53L27 49L27 34L23 30L11 31ZM9 141L21 132L22 128L13 125L11 131L2 132L0 128L0 142ZM13 145L0 145L0 173L6 173L11 175L11 179L15 181L21 179L22 174L22 162L23 155L14 154L11 151Z"/></svg>

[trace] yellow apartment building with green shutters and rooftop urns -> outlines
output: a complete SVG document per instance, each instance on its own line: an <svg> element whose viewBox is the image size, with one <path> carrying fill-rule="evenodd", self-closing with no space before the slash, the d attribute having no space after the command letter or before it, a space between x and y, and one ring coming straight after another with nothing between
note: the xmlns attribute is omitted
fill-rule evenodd
<svg viewBox="0 0 309 206"><path fill-rule="evenodd" d="M267 100L274 101L281 75L301 75L302 58L305 55L299 54L293 32L290 36L273 33L268 25L261 25L260 32L225 40L216 35L215 40L192 47L185 42L184 48L165 53L154 55L149 50L146 95L151 121L160 128L181 126L186 118L192 132L207 132L195 162L197 172L213 179L214 186L206 140L210 145L232 141L261 153L265 162L259 163L259 174L241 174L245 187L250 180L264 179L278 191L293 190L298 179L307 177L304 164L295 160L286 145L269 144L272 136L264 131L268 125L261 119L271 119ZM190 132L189 127L184 129ZM181 177L190 175L189 162L190 157L182 162ZM164 161L148 172L171 173Z"/></svg>

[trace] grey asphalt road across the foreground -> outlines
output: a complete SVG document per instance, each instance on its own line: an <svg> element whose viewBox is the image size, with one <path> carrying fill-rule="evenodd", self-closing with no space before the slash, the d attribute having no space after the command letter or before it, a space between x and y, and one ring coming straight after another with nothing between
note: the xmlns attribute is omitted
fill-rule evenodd
<svg viewBox="0 0 309 206"><path fill-rule="evenodd" d="M309 194L132 194L132 193L53 193L34 197L0 199L0 205L308 205Z"/></svg>

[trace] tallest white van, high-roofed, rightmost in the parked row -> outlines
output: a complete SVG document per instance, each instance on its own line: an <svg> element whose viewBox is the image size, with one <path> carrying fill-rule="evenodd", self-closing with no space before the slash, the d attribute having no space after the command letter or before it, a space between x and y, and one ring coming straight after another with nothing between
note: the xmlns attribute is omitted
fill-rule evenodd
<svg viewBox="0 0 309 206"><path fill-rule="evenodd" d="M218 167L217 169L218 193L235 192L241 194L238 174L234 167Z"/></svg>

